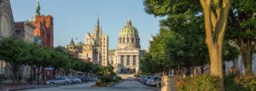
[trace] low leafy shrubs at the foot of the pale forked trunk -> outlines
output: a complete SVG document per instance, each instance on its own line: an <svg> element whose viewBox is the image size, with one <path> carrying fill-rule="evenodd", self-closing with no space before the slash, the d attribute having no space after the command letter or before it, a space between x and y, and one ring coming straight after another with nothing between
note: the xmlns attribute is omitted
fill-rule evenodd
<svg viewBox="0 0 256 91"><path fill-rule="evenodd" d="M177 79L181 91L218 91L220 79L212 76L185 77ZM225 91L255 91L256 77L229 74L224 77Z"/></svg>

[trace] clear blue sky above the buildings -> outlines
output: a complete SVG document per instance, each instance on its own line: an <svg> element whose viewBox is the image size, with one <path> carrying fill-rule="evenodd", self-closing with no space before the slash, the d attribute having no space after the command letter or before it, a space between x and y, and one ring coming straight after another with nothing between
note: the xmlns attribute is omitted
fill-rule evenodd
<svg viewBox="0 0 256 91"><path fill-rule="evenodd" d="M30 20L36 12L36 0L10 0L15 21ZM99 14L103 34L108 35L109 49L117 48L120 29L128 14L137 27L141 48L149 46L151 35L159 32L159 20L144 11L143 0L39 0L41 14L54 17L54 46L65 46L74 39L84 43L92 33Z"/></svg>

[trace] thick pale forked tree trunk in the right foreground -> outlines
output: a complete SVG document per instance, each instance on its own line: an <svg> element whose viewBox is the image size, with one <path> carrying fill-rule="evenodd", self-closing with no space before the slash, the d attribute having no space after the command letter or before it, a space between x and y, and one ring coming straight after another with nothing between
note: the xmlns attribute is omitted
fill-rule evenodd
<svg viewBox="0 0 256 91"><path fill-rule="evenodd" d="M227 19L230 12L230 0L200 0L205 18L206 44L210 55L211 75L220 77L224 90L222 48ZM212 8L212 3L215 8Z"/></svg>

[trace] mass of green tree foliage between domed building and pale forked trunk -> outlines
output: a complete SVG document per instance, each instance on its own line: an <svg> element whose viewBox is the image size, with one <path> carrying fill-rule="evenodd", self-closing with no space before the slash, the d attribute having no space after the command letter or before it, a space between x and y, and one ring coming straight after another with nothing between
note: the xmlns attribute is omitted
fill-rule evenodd
<svg viewBox="0 0 256 91"><path fill-rule="evenodd" d="M160 20L160 33L150 43L151 56L141 60L142 66L155 68L143 67L148 69L143 71L169 71L209 63L198 0L144 0L144 6L148 14L166 16L166 19Z"/></svg>

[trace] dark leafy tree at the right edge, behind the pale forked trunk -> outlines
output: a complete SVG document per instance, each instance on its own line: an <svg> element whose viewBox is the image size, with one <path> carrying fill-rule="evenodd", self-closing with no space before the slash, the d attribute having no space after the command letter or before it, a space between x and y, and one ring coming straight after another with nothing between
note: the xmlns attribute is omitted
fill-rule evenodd
<svg viewBox="0 0 256 91"><path fill-rule="evenodd" d="M232 0L227 37L239 49L245 66L245 75L253 75L253 53L256 47L255 0Z"/></svg>

